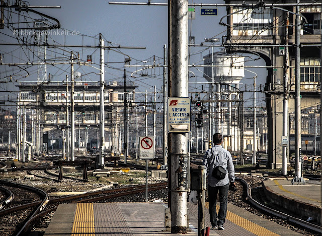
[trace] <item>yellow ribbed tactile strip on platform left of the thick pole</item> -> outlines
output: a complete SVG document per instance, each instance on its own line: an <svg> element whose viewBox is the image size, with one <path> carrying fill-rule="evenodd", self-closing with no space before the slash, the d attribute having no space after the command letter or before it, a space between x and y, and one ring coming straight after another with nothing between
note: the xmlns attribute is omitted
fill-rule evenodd
<svg viewBox="0 0 322 236"><path fill-rule="evenodd" d="M95 236L93 203L77 203L71 236Z"/></svg>

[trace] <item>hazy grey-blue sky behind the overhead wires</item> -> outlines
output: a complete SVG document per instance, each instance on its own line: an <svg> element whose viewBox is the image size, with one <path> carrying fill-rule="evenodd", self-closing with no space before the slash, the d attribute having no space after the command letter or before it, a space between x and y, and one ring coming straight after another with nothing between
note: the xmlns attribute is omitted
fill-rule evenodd
<svg viewBox="0 0 322 236"><path fill-rule="evenodd" d="M14 1L11 1L14 2ZM134 2L134 1L127 1ZM144 2L144 1L136 1ZM165 0L152 0L151 3L167 3ZM156 91L162 91L163 85L163 68L159 67L154 70L145 71L148 76L142 76L141 72L134 73L133 71L142 69L142 65L152 65L153 59L155 64L163 65L164 45L168 44L168 7L167 6L138 6L138 5L110 5L108 1L33 1L30 0L29 5L44 5L44 6L61 6L60 9L35 9L41 13L47 14L56 18L61 28L52 30L61 32L68 30L70 34L74 32L77 35L70 36L57 36L49 35L48 44L73 44L73 45L98 45L98 34L102 33L105 45L113 46L133 46L133 47L146 47L146 49L111 49L105 50L105 81L118 80L123 81L123 66L124 58L131 58L131 65L138 65L135 68L127 68L128 81L133 81L138 87L136 91L143 92L145 89L148 92L153 91L153 86L156 86ZM189 1L191 3L191 1ZM224 3L223 1L209 1L209 0L196 0L193 3ZM207 7L210 8L210 7ZM195 43L205 43L205 38L221 38L226 35L226 27L218 24L221 17L226 15L225 7L217 8L217 16L201 16L200 7L195 9L195 19L189 20L189 36L195 37ZM25 22L28 21L30 16L33 19L41 18L36 14L29 13L27 15L13 9L12 12L5 11L5 22L9 18L9 22ZM29 19L30 20L30 19ZM53 21L50 21L51 24ZM17 28L17 24L14 25ZM21 23L20 27L32 26L32 24ZM66 32L66 31L65 31ZM19 42L26 40L20 32L18 35ZM31 37L27 37L29 42L32 42ZM13 35L13 27L9 29L0 29L0 42L1 43L17 43L17 37ZM108 43L111 42L111 43ZM215 44L220 44L216 42ZM220 50L220 47L214 47L215 50ZM64 50L62 50L64 49ZM48 48L47 58L53 58L55 62L69 62L70 50L79 53L80 59L85 61L88 54L92 55L92 60L99 67L99 49L93 48ZM203 64L203 56L211 53L211 47L190 47L190 61L189 64ZM37 61L37 47L20 47L20 46L4 46L0 45L0 53L5 63L23 63L27 61ZM246 65L250 65L246 63ZM264 65L263 60L251 62L251 65ZM62 81L65 76L69 74L69 65L55 65L47 66L47 73L51 74L52 81ZM0 81L8 81L10 75L14 75L14 81L37 81L37 66L25 66L30 76L23 78L26 72L21 68L0 66ZM205 82L203 77L203 68L189 69L195 77L189 78L189 82ZM265 84L266 71L265 69L248 69L258 75L257 86ZM99 71L95 68L85 66L75 66L75 71L83 75L84 81L99 81ZM88 74L88 75L85 75ZM242 83L248 85L246 90L252 90L253 84L252 77L254 73L245 71L245 78L241 80ZM16 96L16 88L13 86L15 83L1 83L0 84L0 100L7 97L8 94L12 97ZM205 85L207 86L207 85ZM201 90L202 84L189 84L189 91ZM160 96L162 97L162 96ZM258 93L258 104L264 103L263 94ZM138 100L143 100L143 95L136 96ZM252 93L246 94L246 98L252 103ZM161 98L160 98L161 99ZM265 103L264 103L265 104Z"/></svg>

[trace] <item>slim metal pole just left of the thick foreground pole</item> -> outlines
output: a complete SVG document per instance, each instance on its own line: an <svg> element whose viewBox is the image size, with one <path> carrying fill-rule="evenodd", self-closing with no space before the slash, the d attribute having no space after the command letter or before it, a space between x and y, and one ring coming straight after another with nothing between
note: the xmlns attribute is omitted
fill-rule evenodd
<svg viewBox="0 0 322 236"><path fill-rule="evenodd" d="M167 65L167 45L164 45L164 65ZM167 132L167 69L163 68L163 164L168 164L167 147L168 147L168 132Z"/></svg>

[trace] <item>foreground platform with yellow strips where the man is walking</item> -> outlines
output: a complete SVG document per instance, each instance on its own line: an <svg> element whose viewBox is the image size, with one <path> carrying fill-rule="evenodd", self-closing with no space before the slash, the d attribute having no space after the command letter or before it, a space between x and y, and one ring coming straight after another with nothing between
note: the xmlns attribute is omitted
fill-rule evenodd
<svg viewBox="0 0 322 236"><path fill-rule="evenodd" d="M60 204L45 236L67 235L183 235L165 231L167 203L80 203ZM188 203L189 232L197 235L198 206ZM205 204L205 227L210 226L208 202ZM225 230L210 229L209 235L301 235L263 217L228 204Z"/></svg>

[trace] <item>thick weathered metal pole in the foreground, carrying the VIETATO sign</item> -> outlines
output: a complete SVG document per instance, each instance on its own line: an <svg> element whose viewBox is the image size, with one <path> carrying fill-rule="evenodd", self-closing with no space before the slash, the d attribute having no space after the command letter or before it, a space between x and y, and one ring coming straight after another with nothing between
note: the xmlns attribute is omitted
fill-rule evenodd
<svg viewBox="0 0 322 236"><path fill-rule="evenodd" d="M172 94L188 97L188 1L172 1ZM186 133L171 134L171 232L188 228L188 145Z"/></svg>

